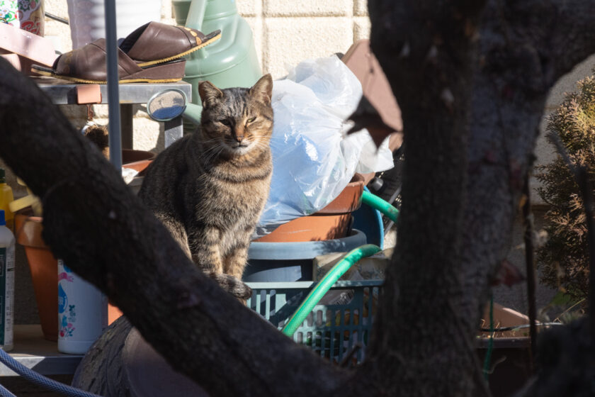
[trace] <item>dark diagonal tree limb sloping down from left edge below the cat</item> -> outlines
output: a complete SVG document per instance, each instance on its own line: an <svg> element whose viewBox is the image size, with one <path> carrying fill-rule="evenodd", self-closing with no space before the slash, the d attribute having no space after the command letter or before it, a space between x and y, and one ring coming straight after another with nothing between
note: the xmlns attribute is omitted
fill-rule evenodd
<svg viewBox="0 0 595 397"><path fill-rule="evenodd" d="M346 379L198 271L30 79L4 60L0 76L0 156L42 197L44 240L175 369L211 396L324 396Z"/></svg>

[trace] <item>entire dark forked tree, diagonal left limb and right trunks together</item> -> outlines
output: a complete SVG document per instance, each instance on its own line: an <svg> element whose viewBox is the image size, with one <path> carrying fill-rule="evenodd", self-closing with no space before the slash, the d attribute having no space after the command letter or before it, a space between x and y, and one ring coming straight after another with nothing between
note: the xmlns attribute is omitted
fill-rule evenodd
<svg viewBox="0 0 595 397"><path fill-rule="evenodd" d="M322 362L183 255L60 110L0 60L0 157L44 204L44 239L212 396L481 396L474 337L509 250L545 96L595 52L595 0L370 0L402 109L399 245L368 359Z"/></svg>

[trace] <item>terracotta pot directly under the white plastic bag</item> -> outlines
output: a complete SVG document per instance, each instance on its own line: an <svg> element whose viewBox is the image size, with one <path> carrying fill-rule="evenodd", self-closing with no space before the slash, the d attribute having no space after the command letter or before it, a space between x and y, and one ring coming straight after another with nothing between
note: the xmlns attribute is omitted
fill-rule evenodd
<svg viewBox="0 0 595 397"><path fill-rule="evenodd" d="M322 210L290 220L254 241L304 242L345 237L351 224L351 213L361 205L363 182L363 176L355 174L341 194Z"/></svg>

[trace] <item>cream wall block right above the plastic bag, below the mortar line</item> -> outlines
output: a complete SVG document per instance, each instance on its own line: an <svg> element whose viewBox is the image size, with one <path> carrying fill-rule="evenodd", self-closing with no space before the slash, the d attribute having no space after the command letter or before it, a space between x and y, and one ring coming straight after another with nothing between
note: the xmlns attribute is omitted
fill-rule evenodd
<svg viewBox="0 0 595 397"><path fill-rule="evenodd" d="M353 44L351 18L266 18L264 71L278 79L302 60L345 52Z"/></svg>

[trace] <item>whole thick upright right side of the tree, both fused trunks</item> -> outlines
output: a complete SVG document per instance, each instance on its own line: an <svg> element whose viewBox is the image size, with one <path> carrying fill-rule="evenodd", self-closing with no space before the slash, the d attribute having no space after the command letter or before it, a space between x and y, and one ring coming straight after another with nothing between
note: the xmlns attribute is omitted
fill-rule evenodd
<svg viewBox="0 0 595 397"><path fill-rule="evenodd" d="M480 3L370 1L406 155L399 244L365 366L401 368L399 395L485 391L475 332L510 248L546 95L595 52L594 6L489 0L478 20Z"/></svg>

